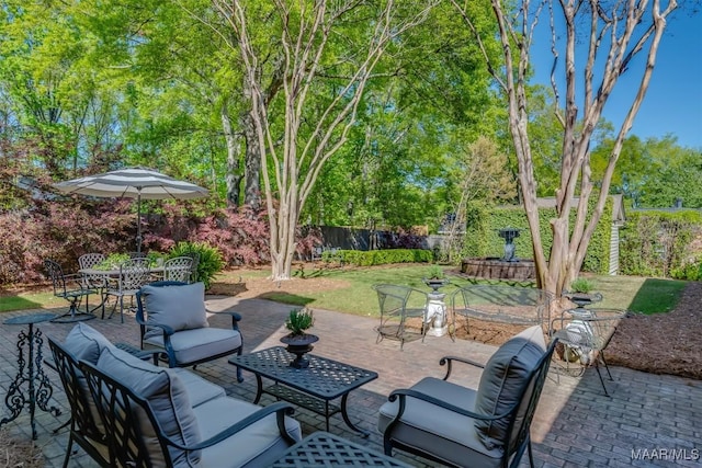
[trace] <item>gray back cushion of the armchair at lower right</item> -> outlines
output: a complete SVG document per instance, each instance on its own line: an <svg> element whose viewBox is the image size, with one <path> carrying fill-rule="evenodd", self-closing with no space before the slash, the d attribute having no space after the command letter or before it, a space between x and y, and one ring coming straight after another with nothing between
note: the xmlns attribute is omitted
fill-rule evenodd
<svg viewBox="0 0 702 468"><path fill-rule="evenodd" d="M475 399L477 413L505 414L523 396L524 385L546 352L541 327L531 327L502 344L485 365ZM530 390L526 391L529 393ZM521 408L520 408L521 409ZM519 415L518 420L523 415ZM478 438L488 449L505 445L509 418L475 420Z"/></svg>

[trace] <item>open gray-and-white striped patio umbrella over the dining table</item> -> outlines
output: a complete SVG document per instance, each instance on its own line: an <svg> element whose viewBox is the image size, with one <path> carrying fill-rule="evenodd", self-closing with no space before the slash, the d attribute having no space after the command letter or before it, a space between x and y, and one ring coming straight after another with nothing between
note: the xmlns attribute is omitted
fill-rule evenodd
<svg viewBox="0 0 702 468"><path fill-rule="evenodd" d="M127 197L137 199L136 250L141 251L141 198L192 199L207 196L208 191L190 182L179 181L146 168L126 168L103 174L87 175L58 182L60 192L98 196L101 198Z"/></svg>

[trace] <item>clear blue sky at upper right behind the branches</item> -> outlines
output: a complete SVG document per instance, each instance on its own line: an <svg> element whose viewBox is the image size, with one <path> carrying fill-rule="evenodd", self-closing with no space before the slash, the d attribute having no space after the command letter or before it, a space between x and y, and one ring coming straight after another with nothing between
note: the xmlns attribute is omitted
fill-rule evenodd
<svg viewBox="0 0 702 468"><path fill-rule="evenodd" d="M702 14L678 10L673 15L668 21L648 92L630 135L645 139L672 134L679 145L702 150ZM539 36L536 41L537 47L532 50L534 79L548 85L553 61L548 36ZM644 56L637 57L632 69L620 78L604 107L604 118L615 128L624 119L638 88L643 64ZM564 93L563 85L559 92Z"/></svg>

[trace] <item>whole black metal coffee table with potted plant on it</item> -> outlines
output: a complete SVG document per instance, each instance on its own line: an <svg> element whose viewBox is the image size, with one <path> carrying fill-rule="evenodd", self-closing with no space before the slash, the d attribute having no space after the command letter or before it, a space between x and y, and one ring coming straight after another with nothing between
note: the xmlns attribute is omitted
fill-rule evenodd
<svg viewBox="0 0 702 468"><path fill-rule="evenodd" d="M269 347L251 354L234 356L229 364L250 370L256 375L258 403L263 393L306 408L325 416L329 431L329 416L341 412L343 421L353 431L369 436L369 432L356 427L349 419L347 402L351 390L377 378L377 373L343 364L326 357L307 354L309 367L295 368L290 362L294 354L283 346ZM273 385L263 387L262 377L273 380ZM330 401L341 397L341 406Z"/></svg>

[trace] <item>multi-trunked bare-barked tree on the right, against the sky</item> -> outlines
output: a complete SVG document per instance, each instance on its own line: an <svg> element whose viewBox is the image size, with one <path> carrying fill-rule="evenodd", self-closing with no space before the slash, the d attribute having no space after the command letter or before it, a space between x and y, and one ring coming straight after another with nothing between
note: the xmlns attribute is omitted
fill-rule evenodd
<svg viewBox="0 0 702 468"><path fill-rule="evenodd" d="M483 42L468 11L472 2L451 1L467 27ZM498 23L502 60L492 62L487 53L485 57L508 100L509 129L519 163L520 191L534 247L537 283L561 295L580 271L604 209L622 145L648 89L667 19L678 4L675 0L521 0L516 3L491 0L490 4ZM531 145L528 100L530 53L540 21L551 27L554 113L562 128L561 174L555 192L556 217L551 219L553 244L548 258L539 229L539 181L534 175L534 158L539 155ZM578 50L580 54L576 54L578 44L585 47ZM602 176L595 181L590 168L591 138L604 104L623 73L638 73L638 83L629 111L615 130ZM562 87L565 87L564 95ZM579 202L571 224L569 215L575 195ZM593 199L591 208L590 198Z"/></svg>

